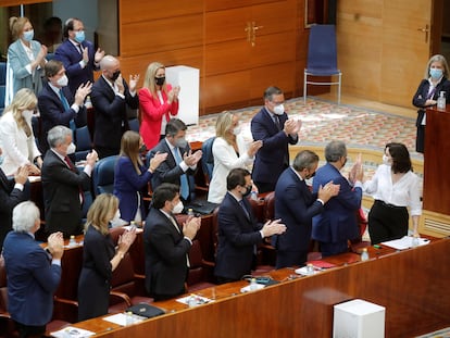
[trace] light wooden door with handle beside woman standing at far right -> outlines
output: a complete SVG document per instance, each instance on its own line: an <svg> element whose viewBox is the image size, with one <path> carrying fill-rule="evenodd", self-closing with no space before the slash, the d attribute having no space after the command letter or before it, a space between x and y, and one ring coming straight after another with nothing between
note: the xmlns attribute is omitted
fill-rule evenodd
<svg viewBox="0 0 450 338"><path fill-rule="evenodd" d="M411 107L430 53L433 1L384 0L380 101Z"/></svg>

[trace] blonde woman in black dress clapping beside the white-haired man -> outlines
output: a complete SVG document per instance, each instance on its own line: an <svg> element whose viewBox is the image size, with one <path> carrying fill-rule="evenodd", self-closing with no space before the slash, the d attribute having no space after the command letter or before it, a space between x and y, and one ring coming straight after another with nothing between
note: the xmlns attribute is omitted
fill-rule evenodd
<svg viewBox="0 0 450 338"><path fill-rule="evenodd" d="M112 272L136 239L134 229L125 231L114 246L109 225L118 217L118 200L111 193L99 195L89 208L78 279L79 321L108 314Z"/></svg>

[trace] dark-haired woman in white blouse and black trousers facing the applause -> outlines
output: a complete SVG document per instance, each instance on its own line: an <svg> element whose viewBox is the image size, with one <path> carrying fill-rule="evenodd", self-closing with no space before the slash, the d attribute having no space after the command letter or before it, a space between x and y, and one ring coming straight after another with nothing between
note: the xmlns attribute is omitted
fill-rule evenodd
<svg viewBox="0 0 450 338"><path fill-rule="evenodd" d="M364 183L364 190L375 199L368 213L372 245L408 235L408 208L414 235L418 235L418 218L422 214L421 184L412 171L410 153L404 145L386 145L383 164L377 167L372 180Z"/></svg>

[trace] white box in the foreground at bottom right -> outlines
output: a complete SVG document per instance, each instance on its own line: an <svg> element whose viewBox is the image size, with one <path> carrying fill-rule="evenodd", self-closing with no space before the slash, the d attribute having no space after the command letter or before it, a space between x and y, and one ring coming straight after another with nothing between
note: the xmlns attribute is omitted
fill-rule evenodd
<svg viewBox="0 0 450 338"><path fill-rule="evenodd" d="M334 306L333 338L385 337L385 308L354 299Z"/></svg>

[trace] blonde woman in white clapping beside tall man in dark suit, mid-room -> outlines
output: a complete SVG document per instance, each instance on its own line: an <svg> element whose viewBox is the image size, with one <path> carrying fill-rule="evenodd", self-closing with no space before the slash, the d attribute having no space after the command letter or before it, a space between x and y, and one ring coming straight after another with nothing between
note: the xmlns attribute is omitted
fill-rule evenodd
<svg viewBox="0 0 450 338"><path fill-rule="evenodd" d="M238 116L223 112L215 124L215 140L212 147L214 168L208 201L221 203L226 193L226 176L235 167L245 167L253 162L262 141L252 141L248 147L240 135Z"/></svg>

